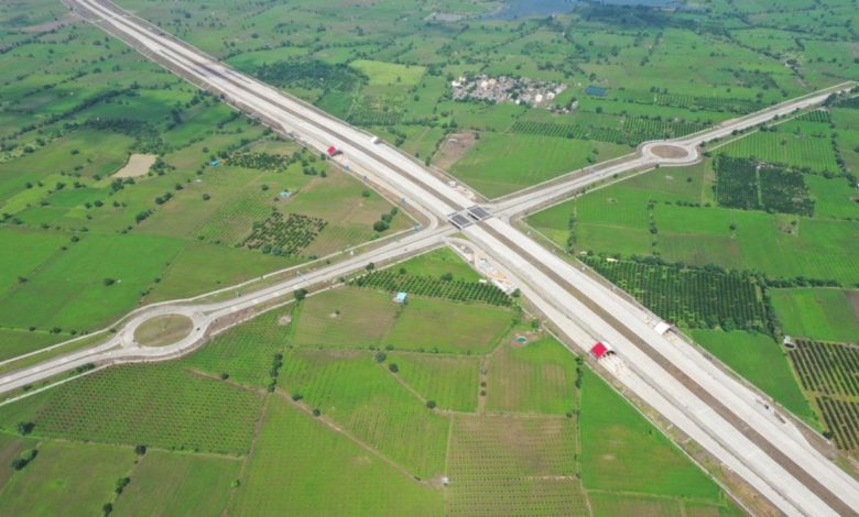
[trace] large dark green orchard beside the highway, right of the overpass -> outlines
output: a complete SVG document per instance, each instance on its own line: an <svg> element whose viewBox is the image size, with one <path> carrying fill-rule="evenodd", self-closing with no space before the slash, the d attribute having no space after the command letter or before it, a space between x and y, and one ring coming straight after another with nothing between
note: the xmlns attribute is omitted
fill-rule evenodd
<svg viewBox="0 0 859 517"><path fill-rule="evenodd" d="M754 277L739 272L610 262L584 257L599 274L649 309L693 328L765 329L766 309Z"/></svg>

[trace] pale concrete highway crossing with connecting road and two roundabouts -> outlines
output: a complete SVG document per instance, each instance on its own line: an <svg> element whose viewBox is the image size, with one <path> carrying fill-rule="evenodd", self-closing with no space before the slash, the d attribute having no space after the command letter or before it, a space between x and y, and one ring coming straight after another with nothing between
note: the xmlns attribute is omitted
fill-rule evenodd
<svg viewBox="0 0 859 517"><path fill-rule="evenodd" d="M225 318L283 302L302 287L330 285L370 262L392 262L456 243L497 264L578 353L585 353L596 341L611 343L617 355L601 363L602 374L613 376L781 512L814 516L857 514L859 484L811 446L790 419L781 418L774 408L762 404L759 393L714 365L684 340L659 333L654 330L657 322L654 315L592 278L580 266L546 250L510 222L615 175L656 165L694 163L699 160L699 146L704 142L819 105L829 94L853 85L838 85L675 141L642 144L633 155L595 165L494 204L482 204L482 210L475 210L474 201L423 164L395 147L373 143L369 133L227 67L113 4L96 0L66 0L66 3L149 58L220 95L225 101L276 131L319 151L335 145L342 152L334 158L340 166L417 210L428 223L396 241L241 297L143 307L129 315L102 344L0 377L0 393L87 363L175 358L205 342L209 330ZM461 216L455 219L459 221L457 227L448 223L456 215ZM460 238L453 239L457 233ZM192 333L162 348L140 346L134 342L134 331L141 323L170 314L191 318Z"/></svg>

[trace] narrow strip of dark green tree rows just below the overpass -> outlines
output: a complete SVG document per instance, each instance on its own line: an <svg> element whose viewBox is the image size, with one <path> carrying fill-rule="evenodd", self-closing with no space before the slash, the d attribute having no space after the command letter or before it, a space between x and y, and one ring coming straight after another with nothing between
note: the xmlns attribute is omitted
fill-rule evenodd
<svg viewBox="0 0 859 517"><path fill-rule="evenodd" d="M445 280L432 276L376 271L356 278L354 284L359 287L373 287L391 293L402 292L456 301L482 301L503 307L508 307L511 304L510 297L501 289L492 284L481 284L479 282Z"/></svg>

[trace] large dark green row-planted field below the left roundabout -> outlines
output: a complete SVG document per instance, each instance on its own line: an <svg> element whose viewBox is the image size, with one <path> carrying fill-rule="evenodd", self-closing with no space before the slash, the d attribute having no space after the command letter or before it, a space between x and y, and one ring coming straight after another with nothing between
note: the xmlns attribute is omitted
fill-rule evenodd
<svg viewBox="0 0 859 517"><path fill-rule="evenodd" d="M36 411L40 435L244 453L261 399L181 364L119 366L56 389Z"/></svg>

